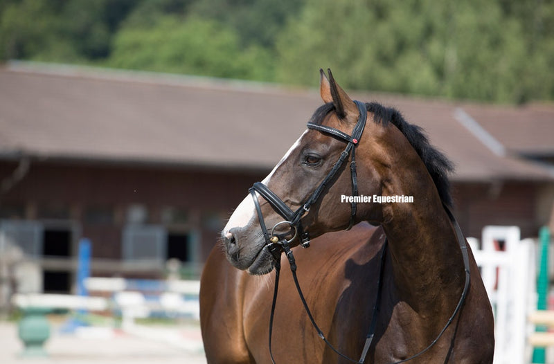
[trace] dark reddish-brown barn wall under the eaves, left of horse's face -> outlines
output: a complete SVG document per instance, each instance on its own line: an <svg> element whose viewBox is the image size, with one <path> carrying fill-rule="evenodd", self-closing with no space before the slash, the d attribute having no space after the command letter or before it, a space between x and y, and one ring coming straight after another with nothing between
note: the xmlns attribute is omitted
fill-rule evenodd
<svg viewBox="0 0 554 364"><path fill-rule="evenodd" d="M0 163L0 181L16 167ZM45 239L69 230L71 257L78 239L88 237L96 260L123 257L129 225L161 226L168 234L190 235L196 242L192 259L202 263L230 212L265 174L35 162L1 195L0 219L39 221Z"/></svg>

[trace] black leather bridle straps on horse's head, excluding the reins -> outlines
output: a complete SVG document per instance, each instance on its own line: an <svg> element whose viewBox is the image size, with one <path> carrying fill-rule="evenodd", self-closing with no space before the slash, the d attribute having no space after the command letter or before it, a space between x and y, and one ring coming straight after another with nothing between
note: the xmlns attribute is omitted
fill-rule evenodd
<svg viewBox="0 0 554 364"><path fill-rule="evenodd" d="M304 214L308 211L310 211L310 207L319 200L321 197L321 194L323 193L323 190L329 185L329 183L332 181L334 176L339 172L341 169L341 166L344 164L348 156L352 155L351 161L350 161L350 176L352 179L352 196L357 196L358 194L358 183L357 183L357 177L356 177L356 147L359 143L359 139L361 138L361 134L364 132L364 127L366 127L366 119L367 119L367 111L366 111L366 105L362 102L355 101L356 106L359 110L359 117L358 121L352 130L352 135L348 135L344 133L343 131L340 131L339 129L335 129L332 127L326 127L324 125L314 124L313 122L307 123L308 129L314 129L321 131L323 134L329 134L330 136L333 136L334 138L337 138L343 142L346 143L346 148L341 153L341 156L339 157L339 160L334 163L332 169L330 170L329 174L325 176L325 179L319 184L319 186L312 192L310 197L308 197L305 202L302 204L300 208L298 208L296 211L293 211L285 202L283 202L282 199L280 199L273 191L271 191L267 185L256 182L254 185L250 188L249 192L254 200L254 205L256 206L256 213L258 214L258 221L260 221L260 228L262 229L262 233L265 239L265 244L267 246L267 249L271 254L276 258L276 260L280 257L281 252L281 245L283 242L283 239L286 240L287 243L292 242L297 236L301 239L301 245L303 248L307 248L310 246L310 235L303 230L302 226L302 217ZM256 192L260 194L268 203L271 208L275 210L285 221L281 221L274 228L271 229L271 236L268 233L268 230L265 226L264 217L262 215L262 209L260 208L260 203L258 201L258 197L256 196ZM356 210L357 210L357 204L356 202L352 201L350 203L350 224L348 225L348 228L346 230L350 230L352 228L352 225L354 224L355 218L356 218ZM276 228L281 224L288 224L291 230L285 234L277 234ZM294 233L292 233L292 230L294 230ZM286 239L287 235L294 235L291 239Z"/></svg>

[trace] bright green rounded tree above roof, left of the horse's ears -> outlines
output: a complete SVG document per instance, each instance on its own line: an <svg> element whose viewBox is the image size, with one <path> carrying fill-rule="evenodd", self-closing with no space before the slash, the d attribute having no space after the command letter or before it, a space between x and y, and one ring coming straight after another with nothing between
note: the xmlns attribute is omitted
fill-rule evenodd
<svg viewBox="0 0 554 364"><path fill-rule="evenodd" d="M272 77L269 53L258 47L240 48L232 29L198 17L161 16L147 28L122 28L107 64L221 78Z"/></svg>

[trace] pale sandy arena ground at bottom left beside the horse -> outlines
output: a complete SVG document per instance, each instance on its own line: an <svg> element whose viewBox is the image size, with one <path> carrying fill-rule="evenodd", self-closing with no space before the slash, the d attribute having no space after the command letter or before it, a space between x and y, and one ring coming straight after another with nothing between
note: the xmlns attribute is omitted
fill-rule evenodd
<svg viewBox="0 0 554 364"><path fill-rule="evenodd" d="M205 364L200 329L136 326L129 330L84 328L73 334L51 330L44 345L47 356L21 356L23 344L17 336L17 322L0 322L2 364Z"/></svg>

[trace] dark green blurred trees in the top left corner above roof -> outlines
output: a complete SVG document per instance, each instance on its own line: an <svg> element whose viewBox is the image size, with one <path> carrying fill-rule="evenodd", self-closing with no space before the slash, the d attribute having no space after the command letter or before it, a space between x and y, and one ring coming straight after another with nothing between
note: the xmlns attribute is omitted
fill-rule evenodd
<svg viewBox="0 0 554 364"><path fill-rule="evenodd" d="M0 5L0 60L105 58L132 6L132 0L6 1Z"/></svg>

